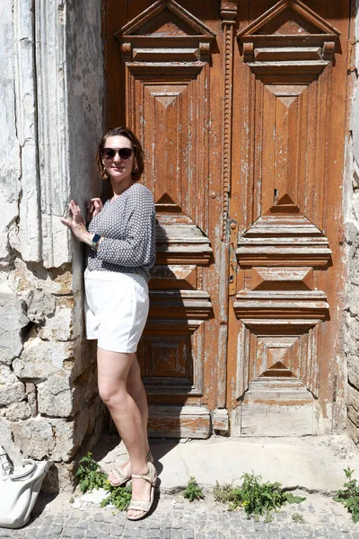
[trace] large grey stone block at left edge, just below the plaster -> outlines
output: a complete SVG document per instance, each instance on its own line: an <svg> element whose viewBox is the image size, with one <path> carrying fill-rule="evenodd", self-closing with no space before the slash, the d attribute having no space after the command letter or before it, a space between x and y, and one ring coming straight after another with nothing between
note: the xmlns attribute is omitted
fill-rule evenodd
<svg viewBox="0 0 359 539"><path fill-rule="evenodd" d="M0 363L10 365L22 351L22 328L29 323L15 294L0 292Z"/></svg>

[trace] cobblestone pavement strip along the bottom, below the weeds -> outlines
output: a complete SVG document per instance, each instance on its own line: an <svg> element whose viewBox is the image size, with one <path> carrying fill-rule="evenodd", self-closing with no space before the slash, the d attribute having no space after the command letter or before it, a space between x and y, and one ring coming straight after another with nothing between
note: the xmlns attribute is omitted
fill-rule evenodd
<svg viewBox="0 0 359 539"><path fill-rule="evenodd" d="M301 495L305 495L300 492ZM151 515L138 522L126 514L95 506L74 509L69 498L59 505L39 499L38 515L21 530L0 528L0 537L17 539L359 539L359 524L330 497L309 494L299 505L273 514L271 522L247 519L244 511L229 512L211 494L190 503L180 494L156 499Z"/></svg>

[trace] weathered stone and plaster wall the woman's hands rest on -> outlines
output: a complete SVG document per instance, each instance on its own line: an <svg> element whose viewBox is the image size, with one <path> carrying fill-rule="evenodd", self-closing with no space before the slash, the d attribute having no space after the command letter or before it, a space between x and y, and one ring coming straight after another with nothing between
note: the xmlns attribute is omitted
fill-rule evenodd
<svg viewBox="0 0 359 539"><path fill-rule="evenodd" d="M2 0L0 444L15 463L52 460L52 488L71 485L105 417L83 338L83 249L59 220L101 188L101 48L99 0Z"/></svg>

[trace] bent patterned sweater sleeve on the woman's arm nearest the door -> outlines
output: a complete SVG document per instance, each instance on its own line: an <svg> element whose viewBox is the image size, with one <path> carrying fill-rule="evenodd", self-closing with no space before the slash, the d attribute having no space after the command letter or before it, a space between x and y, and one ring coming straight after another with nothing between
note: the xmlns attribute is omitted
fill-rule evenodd
<svg viewBox="0 0 359 539"><path fill-rule="evenodd" d="M155 211L150 191L138 190L127 200L126 239L103 237L97 258L128 268L153 266Z"/></svg>

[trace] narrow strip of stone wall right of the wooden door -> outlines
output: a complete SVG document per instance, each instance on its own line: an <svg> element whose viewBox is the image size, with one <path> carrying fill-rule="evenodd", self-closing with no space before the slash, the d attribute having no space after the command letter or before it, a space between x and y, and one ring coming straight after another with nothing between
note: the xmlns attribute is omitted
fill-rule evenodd
<svg viewBox="0 0 359 539"><path fill-rule="evenodd" d="M353 91L346 156L345 215L347 245L346 366L348 432L359 444L359 0L356 0Z"/></svg>

